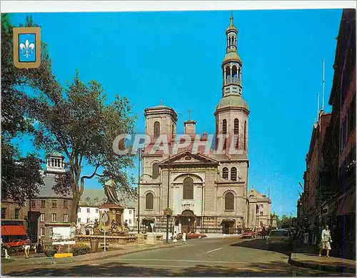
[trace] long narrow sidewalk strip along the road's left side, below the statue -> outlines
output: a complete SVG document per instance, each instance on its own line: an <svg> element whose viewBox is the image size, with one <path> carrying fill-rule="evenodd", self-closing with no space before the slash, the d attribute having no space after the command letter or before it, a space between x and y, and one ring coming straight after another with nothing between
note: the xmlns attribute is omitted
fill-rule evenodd
<svg viewBox="0 0 357 278"><path fill-rule="evenodd" d="M178 245L175 244L158 244L158 245L150 245L150 244L128 244L123 245L121 249L107 251L107 252L98 252L98 253L90 253L90 254L83 254L79 256L69 257L69 258L54 258L54 257L30 257L29 259L25 259L24 257L11 257L14 259L14 262L7 262L2 264L6 267L17 267L17 266L31 266L31 265L41 265L41 264L64 264L64 263L71 263L71 262L86 262L86 261L93 261L95 259L108 259L110 257L117 257L124 254L131 254L146 250L153 250L153 249L160 249L160 248L170 248L175 247Z"/></svg>

